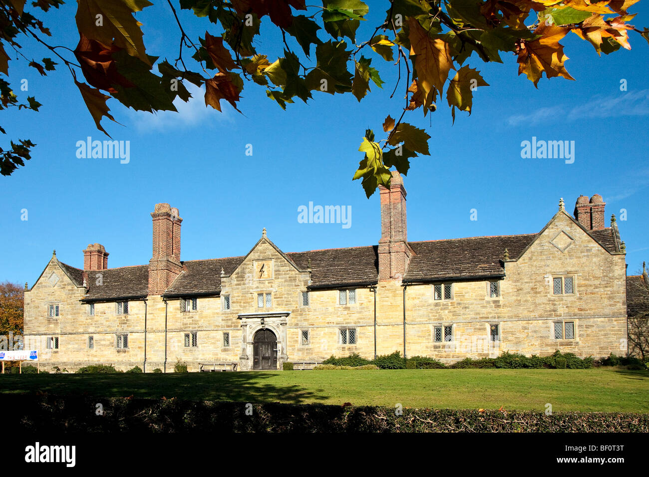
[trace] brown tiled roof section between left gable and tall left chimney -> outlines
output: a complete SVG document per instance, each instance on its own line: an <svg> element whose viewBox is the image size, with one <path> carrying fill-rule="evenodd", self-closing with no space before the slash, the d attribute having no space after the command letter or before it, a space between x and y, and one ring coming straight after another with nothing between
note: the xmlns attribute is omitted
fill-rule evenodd
<svg viewBox="0 0 649 477"><path fill-rule="evenodd" d="M101 284L97 275L101 274ZM88 293L84 300L145 297L149 292L149 265L88 271Z"/></svg>

